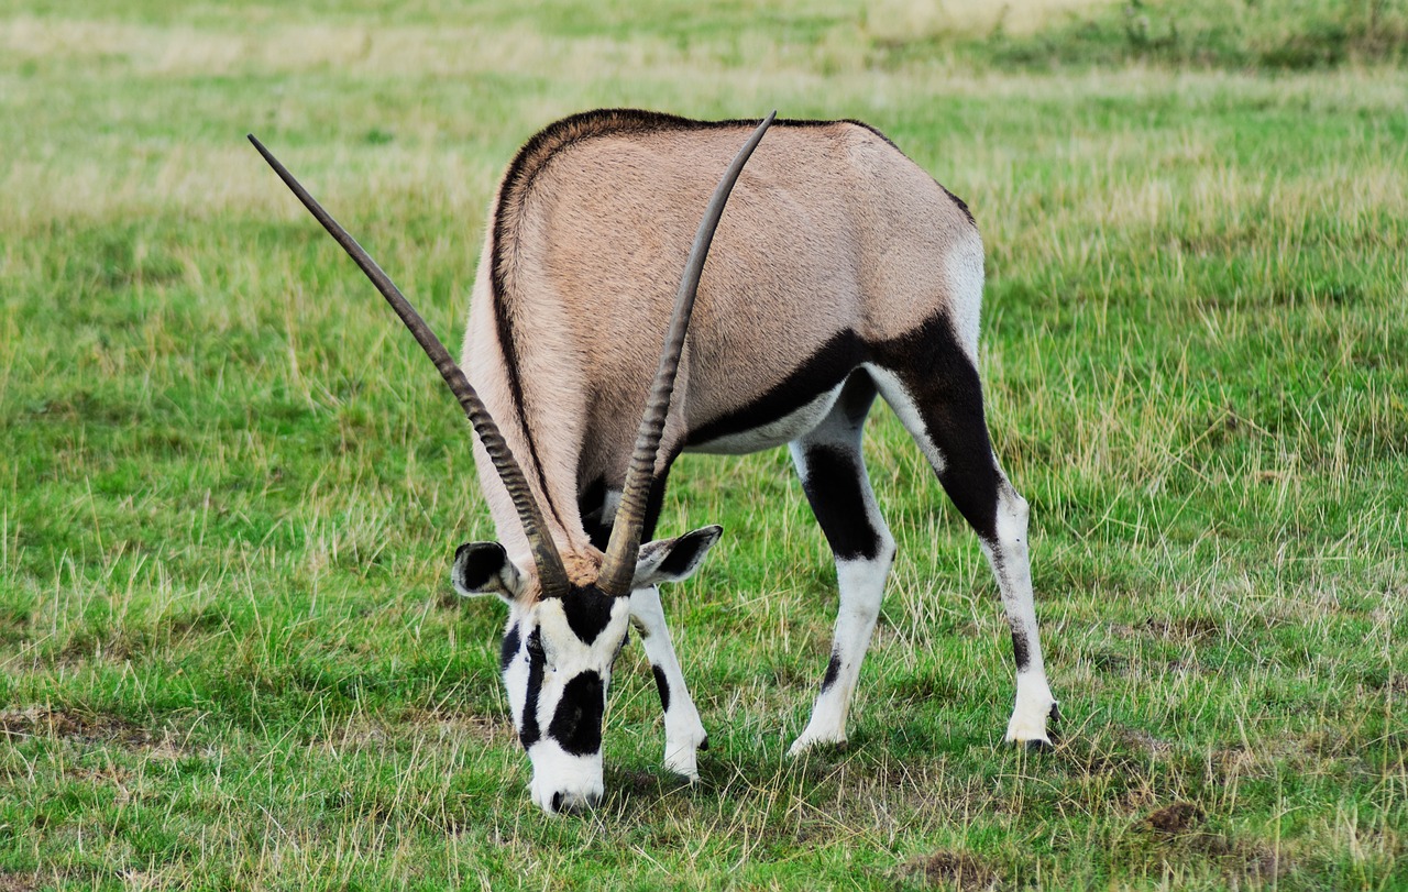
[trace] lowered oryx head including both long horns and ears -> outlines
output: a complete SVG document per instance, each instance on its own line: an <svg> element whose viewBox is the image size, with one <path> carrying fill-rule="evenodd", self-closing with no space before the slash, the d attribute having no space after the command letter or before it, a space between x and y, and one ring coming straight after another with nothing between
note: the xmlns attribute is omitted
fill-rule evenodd
<svg viewBox="0 0 1408 892"><path fill-rule="evenodd" d="M658 582L689 578L722 532L718 526L705 526L677 539L641 543L660 438L708 246L734 183L774 117L776 113L763 120L739 149L700 221L607 550L601 553L587 546L586 553L569 554L566 563L548 533L528 478L449 352L382 267L253 135L249 136L435 363L514 502L534 566L515 564L496 542L466 543L455 553L451 581L462 595L497 595L508 605L500 671L514 727L532 763L532 801L549 813L591 808L604 792L601 718L611 667L625 643L631 594ZM567 563L573 567L570 577Z"/></svg>

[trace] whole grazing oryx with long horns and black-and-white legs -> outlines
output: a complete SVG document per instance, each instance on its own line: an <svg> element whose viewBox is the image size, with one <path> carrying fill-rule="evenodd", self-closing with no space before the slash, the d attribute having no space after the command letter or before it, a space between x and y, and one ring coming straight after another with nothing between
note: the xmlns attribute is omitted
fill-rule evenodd
<svg viewBox="0 0 1408 892"><path fill-rule="evenodd" d="M1017 664L1005 739L1049 746L1057 709L1036 633L1028 505L983 414L973 217L879 131L774 115L731 163L746 121L600 110L532 136L490 205L467 376L376 262L249 136L393 305L477 433L500 542L459 546L451 580L462 595L508 605L500 671L532 763L531 798L549 813L591 808L604 792L605 694L632 625L659 688L665 765L698 778L708 734L659 584L690 577L721 529L652 539L681 452L790 447L841 595L811 720L790 754L845 743L895 554L860 447L877 395L977 533L1001 591Z"/></svg>

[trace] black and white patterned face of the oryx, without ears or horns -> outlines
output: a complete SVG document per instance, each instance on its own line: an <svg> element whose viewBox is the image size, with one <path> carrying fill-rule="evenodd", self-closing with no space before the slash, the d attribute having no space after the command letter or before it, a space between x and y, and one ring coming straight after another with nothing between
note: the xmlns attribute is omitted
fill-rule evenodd
<svg viewBox="0 0 1408 892"><path fill-rule="evenodd" d="M601 718L629 612L629 598L596 587L510 611L500 668L532 761L532 801L546 812L594 806L604 792Z"/></svg>

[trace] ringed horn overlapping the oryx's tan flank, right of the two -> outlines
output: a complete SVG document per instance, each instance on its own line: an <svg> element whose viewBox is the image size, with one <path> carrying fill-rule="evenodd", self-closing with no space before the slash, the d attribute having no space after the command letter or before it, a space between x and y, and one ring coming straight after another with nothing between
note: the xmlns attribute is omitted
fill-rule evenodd
<svg viewBox="0 0 1408 892"><path fill-rule="evenodd" d="M597 588L608 595L631 594L635 559L641 550L641 530L645 528L645 505L655 478L660 438L665 435L665 418L670 412L674 376L680 370L680 352L684 349L684 335L690 326L690 315L694 312L694 298L698 294L700 276L704 273L704 259L708 256L710 242L714 241L714 229L718 228L719 217L724 215L724 205L728 204L728 196L734 190L734 183L738 181L738 174L743 172L743 165L748 163L753 149L758 148L776 117L777 113L773 111L763 118L763 122L734 156L734 163L728 166L724 179L714 189L714 197L710 198L698 232L694 235L690 260L684 266L680 290L674 295L674 317L670 319L670 331L660 350L660 364L655 370L650 398L646 401L645 415L641 418L641 428L635 436L635 452L631 454L631 464L627 469L621 504L617 506L615 523L611 529L611 542L607 544L601 575L597 577Z"/></svg>

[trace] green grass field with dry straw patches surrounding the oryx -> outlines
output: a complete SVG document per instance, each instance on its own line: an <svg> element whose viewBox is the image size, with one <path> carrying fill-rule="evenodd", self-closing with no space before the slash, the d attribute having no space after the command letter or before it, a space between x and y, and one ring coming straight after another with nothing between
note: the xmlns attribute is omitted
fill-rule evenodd
<svg viewBox="0 0 1408 892"><path fill-rule="evenodd" d="M1401 0L0 1L0 889L1408 888ZM686 457L603 809L496 675L467 431L256 132L458 343L501 166L596 106L853 117L972 205L990 426L1062 741L887 411L845 751L788 761L834 575L783 452Z"/></svg>

